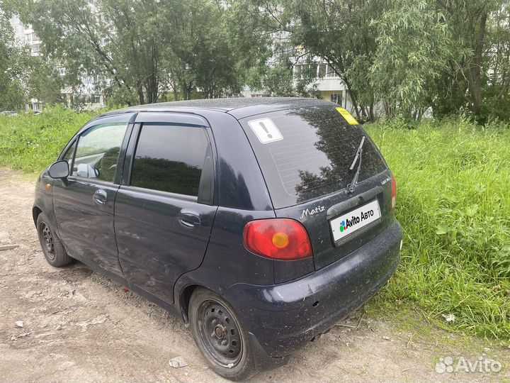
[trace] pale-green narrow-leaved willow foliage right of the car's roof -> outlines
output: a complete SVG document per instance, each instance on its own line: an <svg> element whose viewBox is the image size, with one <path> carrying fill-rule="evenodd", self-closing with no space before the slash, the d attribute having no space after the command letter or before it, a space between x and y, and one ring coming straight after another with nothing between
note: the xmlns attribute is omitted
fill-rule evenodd
<svg viewBox="0 0 510 383"><path fill-rule="evenodd" d="M372 25L377 49L370 85L386 115L409 116L431 104L431 84L448 69L450 37L444 16L426 0L392 1Z"/></svg>

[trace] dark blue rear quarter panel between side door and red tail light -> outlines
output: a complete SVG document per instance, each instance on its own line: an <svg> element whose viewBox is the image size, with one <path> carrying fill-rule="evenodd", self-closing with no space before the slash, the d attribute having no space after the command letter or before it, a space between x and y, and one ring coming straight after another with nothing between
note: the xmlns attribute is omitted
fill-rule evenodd
<svg viewBox="0 0 510 383"><path fill-rule="evenodd" d="M220 208L202 265L183 274L176 283L175 299L179 305L181 292L191 284L222 294L238 282L274 283L273 260L249 252L242 241L247 222L275 216L259 165L234 117L214 111L203 116L210 123L217 150Z"/></svg>

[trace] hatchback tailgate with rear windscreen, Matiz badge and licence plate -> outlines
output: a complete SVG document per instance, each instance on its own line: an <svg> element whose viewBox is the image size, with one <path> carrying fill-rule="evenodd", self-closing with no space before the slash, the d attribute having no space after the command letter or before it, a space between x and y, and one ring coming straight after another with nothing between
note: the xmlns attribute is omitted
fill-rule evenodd
<svg viewBox="0 0 510 383"><path fill-rule="evenodd" d="M305 226L315 269L361 247L392 219L391 174L363 128L344 114L344 109L331 105L259 114L241 121L276 216ZM358 162L353 170L349 167L363 137L358 184L348 191Z"/></svg>

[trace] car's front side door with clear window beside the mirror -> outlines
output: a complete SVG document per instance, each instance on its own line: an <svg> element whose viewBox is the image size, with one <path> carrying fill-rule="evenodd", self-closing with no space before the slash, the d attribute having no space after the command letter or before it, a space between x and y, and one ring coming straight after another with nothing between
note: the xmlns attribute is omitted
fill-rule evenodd
<svg viewBox="0 0 510 383"><path fill-rule="evenodd" d="M122 276L113 231L113 206L120 184L132 114L101 118L81 133L64 154L67 179L55 179L53 205L57 229L70 256Z"/></svg>

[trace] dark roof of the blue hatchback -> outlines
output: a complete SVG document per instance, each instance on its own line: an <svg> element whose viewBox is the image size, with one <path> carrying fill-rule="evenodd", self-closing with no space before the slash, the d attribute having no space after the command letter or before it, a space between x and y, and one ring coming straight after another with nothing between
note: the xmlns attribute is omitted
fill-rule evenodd
<svg viewBox="0 0 510 383"><path fill-rule="evenodd" d="M129 106L103 114L108 116L116 113L142 112L142 111L188 111L212 110L230 113L235 118L254 116L259 113L280 111L285 109L305 108L310 106L336 105L321 99L303 99L297 97L239 97L229 99L200 99L189 101L160 102Z"/></svg>

